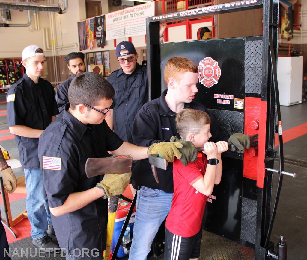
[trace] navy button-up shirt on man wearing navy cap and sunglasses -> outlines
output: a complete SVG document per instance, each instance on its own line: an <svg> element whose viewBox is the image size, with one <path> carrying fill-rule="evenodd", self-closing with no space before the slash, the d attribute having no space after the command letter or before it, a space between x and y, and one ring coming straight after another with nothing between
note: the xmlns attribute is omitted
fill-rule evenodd
<svg viewBox="0 0 307 260"><path fill-rule="evenodd" d="M136 63L132 74L125 74L122 68L107 77L115 89L113 99L114 132L122 140L132 143L131 130L135 115L148 101L147 67Z"/></svg>

